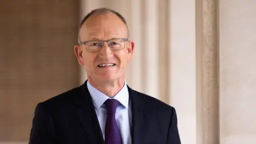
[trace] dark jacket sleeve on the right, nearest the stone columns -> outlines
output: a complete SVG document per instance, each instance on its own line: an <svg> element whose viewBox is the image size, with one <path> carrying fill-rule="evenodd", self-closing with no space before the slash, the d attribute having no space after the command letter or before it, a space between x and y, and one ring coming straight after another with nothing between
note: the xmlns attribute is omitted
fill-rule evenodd
<svg viewBox="0 0 256 144"><path fill-rule="evenodd" d="M178 131L177 114L175 108L172 108L172 116L169 124L167 135L167 144L180 144L180 135Z"/></svg>

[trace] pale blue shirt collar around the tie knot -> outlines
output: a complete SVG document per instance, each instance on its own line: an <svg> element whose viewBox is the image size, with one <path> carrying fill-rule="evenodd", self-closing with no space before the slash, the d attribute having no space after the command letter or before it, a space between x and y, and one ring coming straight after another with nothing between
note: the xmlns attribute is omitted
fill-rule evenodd
<svg viewBox="0 0 256 144"><path fill-rule="evenodd" d="M87 87L88 87L89 93L91 94L93 105L96 109L99 109L107 99L116 99L124 107L128 108L129 92L128 92L126 82L124 82L124 86L122 87L122 89L113 98L109 98L106 94L104 94L101 91L95 89L95 87L93 87L89 83L89 81L87 81Z"/></svg>

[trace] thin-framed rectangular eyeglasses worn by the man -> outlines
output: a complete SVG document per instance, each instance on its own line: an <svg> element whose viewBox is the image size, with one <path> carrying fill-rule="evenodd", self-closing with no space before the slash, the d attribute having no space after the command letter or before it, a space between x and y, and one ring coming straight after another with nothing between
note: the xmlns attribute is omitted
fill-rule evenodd
<svg viewBox="0 0 256 144"><path fill-rule="evenodd" d="M129 38L114 38L114 39L109 39L106 41L84 41L79 43L84 44L85 48L88 52L99 52L101 48L103 47L103 43L107 42L108 46L111 50L122 50L125 47L125 42L129 41Z"/></svg>

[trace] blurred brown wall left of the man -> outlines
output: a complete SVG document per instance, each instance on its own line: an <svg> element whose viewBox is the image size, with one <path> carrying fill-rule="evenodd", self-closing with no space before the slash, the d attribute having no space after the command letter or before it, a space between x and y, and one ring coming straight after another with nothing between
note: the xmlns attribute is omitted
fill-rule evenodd
<svg viewBox="0 0 256 144"><path fill-rule="evenodd" d="M36 104L79 84L78 2L0 3L0 143L28 141Z"/></svg>

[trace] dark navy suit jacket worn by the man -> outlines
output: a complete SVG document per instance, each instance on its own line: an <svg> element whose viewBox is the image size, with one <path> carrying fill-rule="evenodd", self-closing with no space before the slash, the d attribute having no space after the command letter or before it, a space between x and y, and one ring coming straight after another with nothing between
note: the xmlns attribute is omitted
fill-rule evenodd
<svg viewBox="0 0 256 144"><path fill-rule="evenodd" d="M175 109L129 86L132 144L179 144ZM86 82L35 109L30 144L104 144Z"/></svg>

